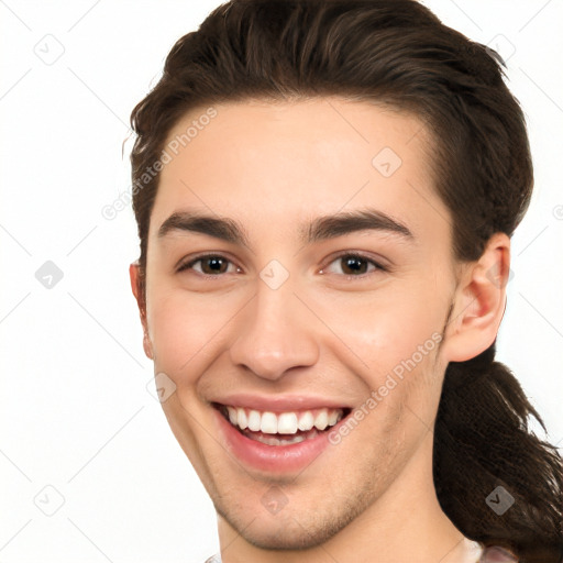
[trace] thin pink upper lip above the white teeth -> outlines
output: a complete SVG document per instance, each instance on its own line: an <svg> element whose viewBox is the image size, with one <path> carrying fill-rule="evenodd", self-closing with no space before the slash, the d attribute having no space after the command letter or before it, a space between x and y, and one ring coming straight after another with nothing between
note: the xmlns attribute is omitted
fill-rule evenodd
<svg viewBox="0 0 563 563"><path fill-rule="evenodd" d="M305 395L246 395L236 394L229 397L222 397L213 400L219 405L230 407L242 407L247 409L271 411L271 412L287 412L294 410L309 410L321 409L323 407L330 409L346 409L351 408L349 405L343 405L335 399L305 396Z"/></svg>

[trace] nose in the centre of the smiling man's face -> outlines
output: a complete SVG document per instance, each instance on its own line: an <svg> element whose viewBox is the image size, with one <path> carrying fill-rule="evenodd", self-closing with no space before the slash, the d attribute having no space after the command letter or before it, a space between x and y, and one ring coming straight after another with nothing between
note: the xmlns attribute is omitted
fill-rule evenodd
<svg viewBox="0 0 563 563"><path fill-rule="evenodd" d="M258 280L254 299L238 316L231 361L272 380L294 367L314 365L319 358L314 327L311 312L288 283L272 289Z"/></svg>

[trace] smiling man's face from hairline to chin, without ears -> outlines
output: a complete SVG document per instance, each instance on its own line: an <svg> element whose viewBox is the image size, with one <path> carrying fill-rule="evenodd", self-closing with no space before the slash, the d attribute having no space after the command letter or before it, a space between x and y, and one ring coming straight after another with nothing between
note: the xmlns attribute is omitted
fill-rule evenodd
<svg viewBox="0 0 563 563"><path fill-rule="evenodd" d="M432 487L450 216L412 117L339 98L214 108L151 216L163 408L231 529L311 547Z"/></svg>

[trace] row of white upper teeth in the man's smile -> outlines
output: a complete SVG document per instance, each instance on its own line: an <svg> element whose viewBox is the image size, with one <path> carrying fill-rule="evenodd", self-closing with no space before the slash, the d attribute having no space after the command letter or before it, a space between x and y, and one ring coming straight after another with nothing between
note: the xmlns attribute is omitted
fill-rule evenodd
<svg viewBox="0 0 563 563"><path fill-rule="evenodd" d="M295 434L298 430L308 431L312 428L324 430L334 426L343 416L342 409L314 409L300 412L271 412L249 410L242 407L227 407L231 424L242 430L266 434Z"/></svg>

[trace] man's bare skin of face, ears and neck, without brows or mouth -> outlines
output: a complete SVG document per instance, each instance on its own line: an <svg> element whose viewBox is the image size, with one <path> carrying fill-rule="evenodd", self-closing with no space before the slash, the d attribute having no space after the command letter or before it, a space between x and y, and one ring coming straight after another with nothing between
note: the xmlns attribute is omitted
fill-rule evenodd
<svg viewBox="0 0 563 563"><path fill-rule="evenodd" d="M223 562L476 561L477 545L438 504L432 429L448 363L496 338L509 239L495 234L474 263L453 260L451 217L432 188L431 140L413 117L336 97L216 109L162 172L146 301L137 264L130 274L145 352L176 385L165 415L218 511ZM185 115L169 140L203 111ZM390 177L372 165L383 147L402 161ZM314 218L367 207L407 225L413 240L378 230L310 244L299 238ZM188 210L238 221L249 244L157 235L172 213ZM352 251L388 271L350 274L339 254ZM199 272L175 269L199 253L224 256L228 271L206 278L201 262ZM289 273L278 289L260 277L272 260ZM301 473L258 472L224 448L213 400L297 394L360 407L435 333L441 344ZM261 503L273 485L287 499L275 515Z"/></svg>

